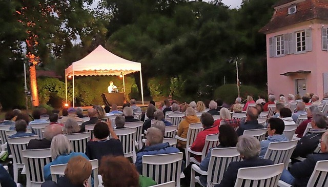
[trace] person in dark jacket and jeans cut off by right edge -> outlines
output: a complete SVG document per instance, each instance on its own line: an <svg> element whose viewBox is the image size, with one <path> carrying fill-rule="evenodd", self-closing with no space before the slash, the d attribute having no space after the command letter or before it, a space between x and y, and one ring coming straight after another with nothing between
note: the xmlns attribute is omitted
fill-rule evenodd
<svg viewBox="0 0 328 187"><path fill-rule="evenodd" d="M292 165L290 172L284 170L280 180L293 186L306 186L314 171L317 161L328 160L328 132L325 132L320 140L321 153L310 154L302 162Z"/></svg>

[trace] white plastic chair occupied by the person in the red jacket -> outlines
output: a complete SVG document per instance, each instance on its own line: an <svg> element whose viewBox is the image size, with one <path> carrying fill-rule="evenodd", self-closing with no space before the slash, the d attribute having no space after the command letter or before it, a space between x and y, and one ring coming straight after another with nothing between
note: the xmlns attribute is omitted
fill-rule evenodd
<svg viewBox="0 0 328 187"><path fill-rule="evenodd" d="M218 134L210 134L206 136L205 144L203 147L202 152L196 152L192 151L190 147L187 148L187 155L186 155L186 165L189 165L190 162L194 162L195 164L199 165L200 162L198 162L194 157L191 157L191 153L194 155L201 156L201 160L203 160L207 153L209 152L209 149L219 146L219 135Z"/></svg>

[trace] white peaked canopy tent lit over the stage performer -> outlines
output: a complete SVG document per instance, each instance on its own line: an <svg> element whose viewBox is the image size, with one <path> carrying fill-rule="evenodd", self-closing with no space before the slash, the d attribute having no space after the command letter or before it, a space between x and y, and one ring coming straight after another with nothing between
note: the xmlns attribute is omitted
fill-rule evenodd
<svg viewBox="0 0 328 187"><path fill-rule="evenodd" d="M116 75L123 77L123 89L125 92L124 76L134 72L140 72L141 98L144 105L144 90L142 89L141 64L134 61L126 60L107 51L99 45L86 57L75 61L65 69L66 85L66 103L67 103L67 76L73 77L73 107L74 104L74 76L91 76L91 75Z"/></svg>

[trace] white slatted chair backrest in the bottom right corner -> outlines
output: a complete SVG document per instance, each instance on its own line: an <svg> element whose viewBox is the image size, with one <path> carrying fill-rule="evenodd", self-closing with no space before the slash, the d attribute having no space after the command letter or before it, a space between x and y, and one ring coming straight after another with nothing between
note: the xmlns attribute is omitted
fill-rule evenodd
<svg viewBox="0 0 328 187"><path fill-rule="evenodd" d="M317 161L307 187L328 185L328 160Z"/></svg>

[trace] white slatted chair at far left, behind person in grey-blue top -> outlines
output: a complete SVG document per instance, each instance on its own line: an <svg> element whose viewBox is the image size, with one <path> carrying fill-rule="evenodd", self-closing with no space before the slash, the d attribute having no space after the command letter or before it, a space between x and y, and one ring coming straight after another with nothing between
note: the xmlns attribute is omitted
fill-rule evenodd
<svg viewBox="0 0 328 187"><path fill-rule="evenodd" d="M14 181L18 181L18 168L24 168L22 151L26 150L27 144L31 139L37 139L38 136L25 136L18 138L8 138L9 148L13 160Z"/></svg>

